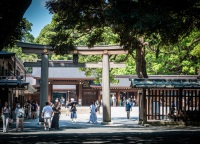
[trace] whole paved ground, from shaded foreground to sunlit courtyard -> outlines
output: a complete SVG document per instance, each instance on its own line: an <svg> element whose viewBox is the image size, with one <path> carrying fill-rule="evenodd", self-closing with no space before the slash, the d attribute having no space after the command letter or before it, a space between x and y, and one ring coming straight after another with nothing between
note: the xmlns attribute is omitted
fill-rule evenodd
<svg viewBox="0 0 200 144"><path fill-rule="evenodd" d="M97 115L98 123L87 123L87 107L78 107L78 118L72 123L63 112L60 117L60 129L45 131L38 119L25 119L24 131L16 132L15 123L8 133L0 128L0 142L9 144L66 144L66 143L196 143L199 140L199 127L150 126L138 125L138 107L126 119L124 107L112 107L112 125L102 125L102 114Z"/></svg>

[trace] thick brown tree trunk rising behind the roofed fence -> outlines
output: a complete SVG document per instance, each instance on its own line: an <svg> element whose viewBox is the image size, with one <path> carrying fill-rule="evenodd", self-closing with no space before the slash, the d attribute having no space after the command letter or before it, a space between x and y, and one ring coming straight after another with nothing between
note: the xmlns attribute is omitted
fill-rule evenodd
<svg viewBox="0 0 200 144"><path fill-rule="evenodd" d="M148 78L144 46L136 48L136 72L138 78Z"/></svg>

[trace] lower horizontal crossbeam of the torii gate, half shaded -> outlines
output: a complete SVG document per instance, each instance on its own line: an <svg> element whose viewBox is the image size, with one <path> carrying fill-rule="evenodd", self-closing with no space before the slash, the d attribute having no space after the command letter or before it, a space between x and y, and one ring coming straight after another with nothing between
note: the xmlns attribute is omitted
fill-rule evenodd
<svg viewBox="0 0 200 144"><path fill-rule="evenodd" d="M24 62L24 67L41 67L41 62ZM85 68L102 68L102 62L99 63L54 63L49 62L49 67L85 67ZM110 68L125 68L126 64L115 64L110 62Z"/></svg>

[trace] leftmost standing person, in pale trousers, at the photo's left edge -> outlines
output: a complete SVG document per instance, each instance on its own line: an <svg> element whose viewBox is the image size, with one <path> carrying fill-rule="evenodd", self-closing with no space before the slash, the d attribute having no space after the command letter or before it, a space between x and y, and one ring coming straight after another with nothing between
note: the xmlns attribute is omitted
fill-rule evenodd
<svg viewBox="0 0 200 144"><path fill-rule="evenodd" d="M9 118L10 118L10 113L11 113L11 109L8 105L8 102L4 103L4 106L1 109L1 112L2 112L2 120L3 120L3 132L7 133L8 128L9 128Z"/></svg>

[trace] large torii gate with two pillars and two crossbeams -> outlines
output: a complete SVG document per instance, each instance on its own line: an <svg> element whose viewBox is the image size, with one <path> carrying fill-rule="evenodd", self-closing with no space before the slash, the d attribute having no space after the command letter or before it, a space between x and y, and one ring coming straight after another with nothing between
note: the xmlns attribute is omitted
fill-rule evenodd
<svg viewBox="0 0 200 144"><path fill-rule="evenodd" d="M18 47L22 47L23 53L35 53L42 54L41 62L25 63L26 67L41 66L41 83L40 83L40 115L42 108L45 106L44 102L48 101L48 67L102 67L102 91L103 91L103 122L102 124L112 124L111 122L111 106L110 106L110 67L125 67L124 64L113 64L109 62L109 55L112 54L127 54L123 48L119 46L95 46L93 48L88 47L75 47L75 50L71 52L75 55L103 55L103 61L99 64L80 64L69 63L54 65L52 62L48 62L48 53L52 53L52 47L48 45L30 44L18 42ZM43 103L42 103L43 102ZM41 116L39 121L42 122Z"/></svg>

